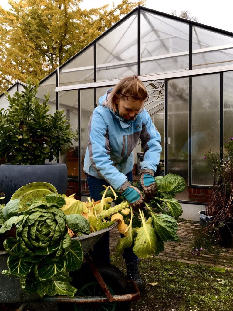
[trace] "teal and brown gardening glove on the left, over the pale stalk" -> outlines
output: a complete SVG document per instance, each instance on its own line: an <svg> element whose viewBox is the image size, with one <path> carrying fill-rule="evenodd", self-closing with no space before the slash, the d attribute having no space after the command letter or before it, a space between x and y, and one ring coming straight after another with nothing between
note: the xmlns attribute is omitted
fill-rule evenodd
<svg viewBox="0 0 233 311"><path fill-rule="evenodd" d="M138 211L139 208L145 207L143 195L138 188L133 187L129 181L126 181L123 185L121 185L120 192L135 211Z"/></svg>

